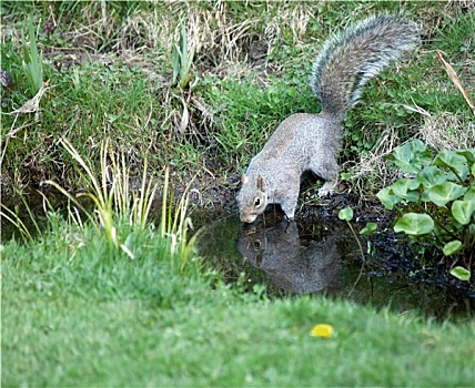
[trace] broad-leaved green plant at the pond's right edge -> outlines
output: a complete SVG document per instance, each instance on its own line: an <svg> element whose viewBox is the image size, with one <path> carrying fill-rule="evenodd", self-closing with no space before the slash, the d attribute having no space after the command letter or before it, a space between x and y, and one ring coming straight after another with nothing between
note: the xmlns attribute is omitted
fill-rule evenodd
<svg viewBox="0 0 475 388"><path fill-rule="evenodd" d="M451 274L468 279L475 254L475 149L441 151L434 157L413 140L390 160L410 176L377 193L386 208L400 213L394 231L414 244L428 241L434 257L453 256L454 264L462 258L468 269Z"/></svg>

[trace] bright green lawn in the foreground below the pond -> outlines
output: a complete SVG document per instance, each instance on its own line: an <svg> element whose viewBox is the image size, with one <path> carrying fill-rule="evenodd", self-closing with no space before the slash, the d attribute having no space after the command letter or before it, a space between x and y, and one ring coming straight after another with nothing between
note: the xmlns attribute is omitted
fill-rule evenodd
<svg viewBox="0 0 475 388"><path fill-rule="evenodd" d="M57 221L54 221L57 219ZM471 386L473 323L323 297L267 300L173 267L155 232L135 259L94 228L2 248L2 386ZM124 231L120 231L124 232ZM58 238L61 235L62 238ZM317 323L331 338L309 335Z"/></svg>

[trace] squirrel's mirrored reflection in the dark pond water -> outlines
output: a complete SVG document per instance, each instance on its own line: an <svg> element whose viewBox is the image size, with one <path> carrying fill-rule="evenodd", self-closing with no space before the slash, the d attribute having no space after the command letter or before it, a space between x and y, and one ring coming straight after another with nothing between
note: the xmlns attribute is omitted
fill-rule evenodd
<svg viewBox="0 0 475 388"><path fill-rule="evenodd" d="M271 277L283 289L309 294L329 286L340 269L333 236L302 243L295 222L265 226L243 225L238 249L243 257Z"/></svg>

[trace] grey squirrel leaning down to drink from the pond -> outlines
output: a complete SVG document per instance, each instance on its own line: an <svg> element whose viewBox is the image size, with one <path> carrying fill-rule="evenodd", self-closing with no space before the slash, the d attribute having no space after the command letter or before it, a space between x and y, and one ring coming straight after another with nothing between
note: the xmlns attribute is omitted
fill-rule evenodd
<svg viewBox="0 0 475 388"><path fill-rule="evenodd" d="M417 30L413 21L398 14L373 16L324 43L311 76L321 113L292 114L251 160L238 194L242 222L254 222L272 203L280 204L293 219L305 171L325 181L320 196L333 192L346 112L373 76L418 43Z"/></svg>

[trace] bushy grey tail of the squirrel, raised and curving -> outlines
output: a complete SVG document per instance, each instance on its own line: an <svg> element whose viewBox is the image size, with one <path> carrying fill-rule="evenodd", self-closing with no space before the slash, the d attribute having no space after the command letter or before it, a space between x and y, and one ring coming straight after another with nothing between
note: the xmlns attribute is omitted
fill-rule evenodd
<svg viewBox="0 0 475 388"><path fill-rule="evenodd" d="M416 24L395 14L371 17L329 39L311 80L322 112L343 119L366 82L418 40Z"/></svg>

